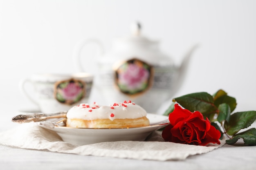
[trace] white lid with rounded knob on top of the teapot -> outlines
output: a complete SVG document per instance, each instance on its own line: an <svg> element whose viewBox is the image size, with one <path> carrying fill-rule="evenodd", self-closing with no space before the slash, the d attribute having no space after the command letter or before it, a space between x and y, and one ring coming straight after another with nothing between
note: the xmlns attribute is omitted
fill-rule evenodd
<svg viewBox="0 0 256 170"><path fill-rule="evenodd" d="M139 22L134 22L130 25L131 35L121 38L116 38L117 43L120 42L132 42L139 44L155 44L158 41L149 40L148 38L141 35L141 24Z"/></svg>

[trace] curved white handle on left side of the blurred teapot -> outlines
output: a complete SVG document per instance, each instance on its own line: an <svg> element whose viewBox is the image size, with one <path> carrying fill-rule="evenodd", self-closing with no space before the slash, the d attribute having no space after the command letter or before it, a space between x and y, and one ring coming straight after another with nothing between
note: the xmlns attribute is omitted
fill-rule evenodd
<svg viewBox="0 0 256 170"><path fill-rule="evenodd" d="M104 53L104 48L103 48L103 44L94 38L88 39L88 40L83 40L82 42L78 43L75 48L74 48L74 60L75 60L75 64L78 68L79 71L81 72L85 72L85 70L83 69L83 66L81 64L81 51L83 48L85 48L86 45L88 44L96 44L99 47L99 51L97 55L103 55Z"/></svg>

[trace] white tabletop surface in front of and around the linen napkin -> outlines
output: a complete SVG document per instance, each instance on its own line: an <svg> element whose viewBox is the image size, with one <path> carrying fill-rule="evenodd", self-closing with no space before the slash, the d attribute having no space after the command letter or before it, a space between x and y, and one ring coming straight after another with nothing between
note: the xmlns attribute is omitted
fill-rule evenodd
<svg viewBox="0 0 256 170"><path fill-rule="evenodd" d="M19 126L11 122L18 112L6 107L0 120L0 131ZM252 126L256 127L254 123ZM51 170L90 169L90 170L231 170L256 168L256 146L231 146L225 144L211 152L188 157L184 161L149 161L117 159L109 157L82 156L49 152L47 150L27 150L0 145L0 166L4 170Z"/></svg>

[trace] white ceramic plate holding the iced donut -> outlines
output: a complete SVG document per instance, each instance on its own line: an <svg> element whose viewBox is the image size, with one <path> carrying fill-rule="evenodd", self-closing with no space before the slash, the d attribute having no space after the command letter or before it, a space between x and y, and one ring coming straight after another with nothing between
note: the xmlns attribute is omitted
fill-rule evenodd
<svg viewBox="0 0 256 170"><path fill-rule="evenodd" d="M154 130L168 125L168 117L156 114L147 114L150 126L139 128L93 129L69 128L65 126L38 126L56 132L65 142L85 145L106 141L144 141Z"/></svg>

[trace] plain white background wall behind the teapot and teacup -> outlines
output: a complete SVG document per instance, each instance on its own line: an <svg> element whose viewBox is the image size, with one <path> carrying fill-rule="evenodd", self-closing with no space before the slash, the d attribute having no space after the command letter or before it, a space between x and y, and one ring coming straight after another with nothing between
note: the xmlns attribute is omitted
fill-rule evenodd
<svg viewBox="0 0 256 170"><path fill-rule="evenodd" d="M175 97L221 88L238 110L256 110L255 0L0 0L1 106L32 107L18 90L22 78L77 72L78 42L98 38L108 52L134 21L176 64L200 44ZM94 62L88 72L97 71Z"/></svg>

